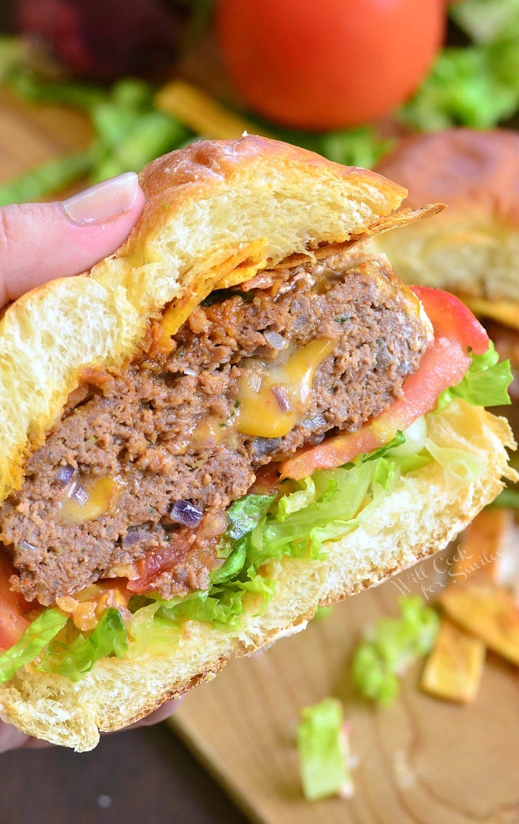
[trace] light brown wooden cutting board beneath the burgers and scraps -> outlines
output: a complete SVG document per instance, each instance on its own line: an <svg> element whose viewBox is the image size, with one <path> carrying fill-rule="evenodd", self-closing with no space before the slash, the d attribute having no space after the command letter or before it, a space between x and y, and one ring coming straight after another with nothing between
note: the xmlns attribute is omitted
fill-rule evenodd
<svg viewBox="0 0 519 824"><path fill-rule="evenodd" d="M0 92L0 180L63 151L86 146L82 115L34 107ZM397 579L429 596L440 560ZM334 607L305 633L229 663L212 684L186 696L171 725L255 822L268 824L467 824L519 822L519 681L489 657L469 708L418 690L419 667L404 677L390 709L352 694L348 661L361 628L395 613L400 590L386 583ZM306 803L294 747L299 710L336 695L353 725L352 800Z"/></svg>

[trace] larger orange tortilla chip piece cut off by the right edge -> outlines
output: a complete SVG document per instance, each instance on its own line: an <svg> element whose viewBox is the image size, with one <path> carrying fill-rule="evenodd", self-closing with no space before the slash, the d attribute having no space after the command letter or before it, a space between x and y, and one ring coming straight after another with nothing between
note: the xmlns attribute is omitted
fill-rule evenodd
<svg viewBox="0 0 519 824"><path fill-rule="evenodd" d="M519 606L510 592L478 578L447 587L438 602L451 620L519 667Z"/></svg>

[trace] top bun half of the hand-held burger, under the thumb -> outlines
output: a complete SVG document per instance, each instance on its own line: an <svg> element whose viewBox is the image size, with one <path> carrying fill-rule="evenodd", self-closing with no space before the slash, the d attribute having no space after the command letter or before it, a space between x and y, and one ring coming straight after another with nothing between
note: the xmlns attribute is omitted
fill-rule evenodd
<svg viewBox="0 0 519 824"><path fill-rule="evenodd" d="M166 304L177 302L178 327L223 278L362 234L405 195L371 171L252 136L193 143L141 183L146 207L114 255L26 294L0 321L0 500L21 485L81 368L118 369Z"/></svg>

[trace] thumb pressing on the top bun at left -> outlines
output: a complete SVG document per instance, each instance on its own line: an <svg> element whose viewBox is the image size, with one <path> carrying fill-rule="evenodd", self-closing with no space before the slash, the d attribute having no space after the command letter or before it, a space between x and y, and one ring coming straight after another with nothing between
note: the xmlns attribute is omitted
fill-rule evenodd
<svg viewBox="0 0 519 824"><path fill-rule="evenodd" d="M47 280L91 269L128 237L143 204L129 171L63 203L0 208L0 307Z"/></svg>

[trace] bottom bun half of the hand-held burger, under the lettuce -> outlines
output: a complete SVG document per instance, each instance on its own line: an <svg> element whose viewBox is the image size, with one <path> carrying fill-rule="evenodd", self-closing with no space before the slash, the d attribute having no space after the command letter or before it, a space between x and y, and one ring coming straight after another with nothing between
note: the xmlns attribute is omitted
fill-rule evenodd
<svg viewBox="0 0 519 824"><path fill-rule="evenodd" d="M240 630L189 621L171 652L105 658L78 683L24 667L0 686L2 718L35 737L90 750L99 731L123 728L212 679L231 655L248 655L303 629L320 604L361 592L442 549L495 498L502 475L515 474L504 448L513 441L503 418L461 400L427 419L428 437L438 446L464 448L479 458L479 480L454 491L435 462L405 475L381 498L376 518L326 545L326 559L271 562L278 578L274 598L261 616L251 602Z"/></svg>

